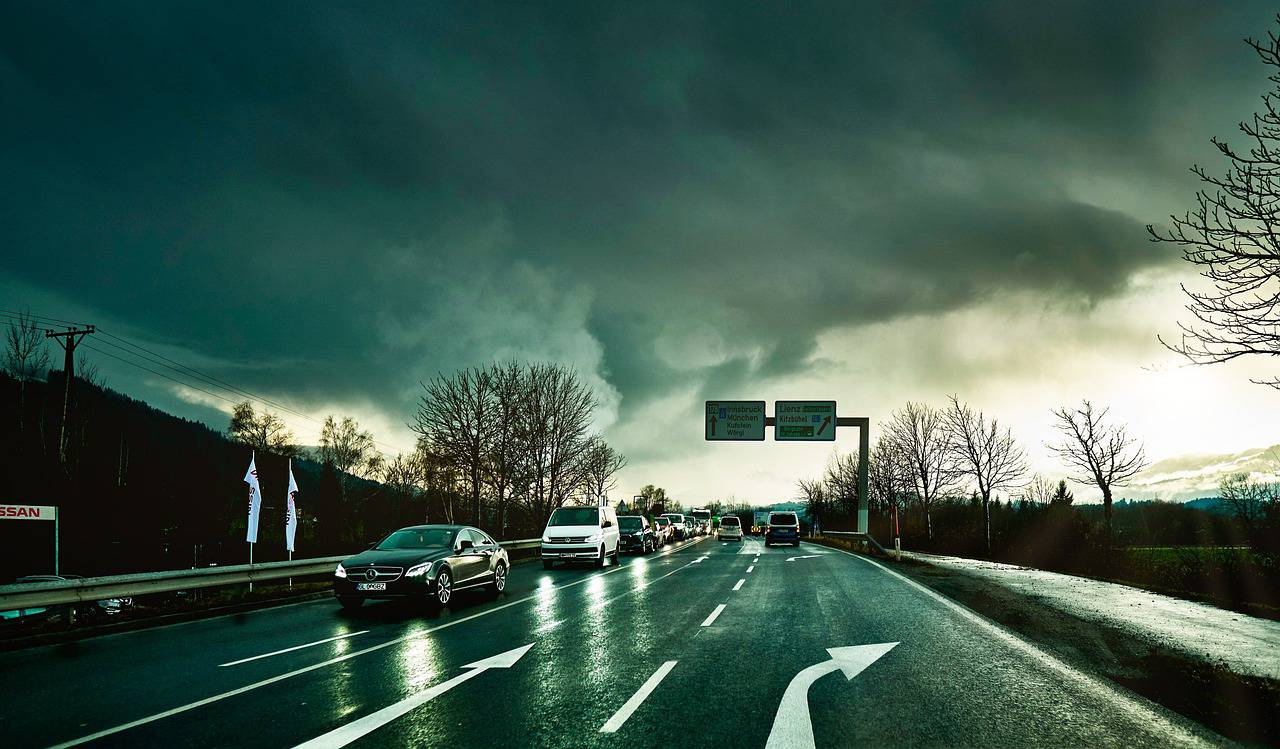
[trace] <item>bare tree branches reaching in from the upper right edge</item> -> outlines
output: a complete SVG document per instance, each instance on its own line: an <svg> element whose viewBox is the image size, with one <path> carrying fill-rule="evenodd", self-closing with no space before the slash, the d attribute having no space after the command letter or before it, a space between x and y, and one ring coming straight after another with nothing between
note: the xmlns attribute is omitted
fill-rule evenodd
<svg viewBox="0 0 1280 749"><path fill-rule="evenodd" d="M1280 37L1267 37L1245 42L1280 70ZM1196 207L1170 216L1171 229L1147 227L1153 241L1180 246L1183 259L1208 282L1206 291L1183 286L1194 321L1179 323L1179 341L1161 338L1196 364L1280 356L1280 72L1268 79L1274 87L1262 95L1266 111L1239 124L1248 150L1212 138L1228 160L1226 173L1216 177L1192 166L1203 184ZM1280 378L1253 382L1280 388Z"/></svg>

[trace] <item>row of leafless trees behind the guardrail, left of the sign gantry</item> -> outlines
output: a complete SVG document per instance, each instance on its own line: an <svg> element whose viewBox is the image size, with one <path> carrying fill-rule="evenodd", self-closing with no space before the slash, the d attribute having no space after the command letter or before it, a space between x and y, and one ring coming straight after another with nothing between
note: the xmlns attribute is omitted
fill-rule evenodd
<svg viewBox="0 0 1280 749"><path fill-rule="evenodd" d="M593 430L596 408L570 367L493 362L421 383L408 421L413 449L384 456L355 419L329 416L311 457L338 478L343 508L326 510L351 528L466 522L515 538L541 531L559 504L594 503L617 487L627 460ZM248 402L236 406L228 434L256 451L298 455L284 421ZM355 479L379 487L353 495Z"/></svg>

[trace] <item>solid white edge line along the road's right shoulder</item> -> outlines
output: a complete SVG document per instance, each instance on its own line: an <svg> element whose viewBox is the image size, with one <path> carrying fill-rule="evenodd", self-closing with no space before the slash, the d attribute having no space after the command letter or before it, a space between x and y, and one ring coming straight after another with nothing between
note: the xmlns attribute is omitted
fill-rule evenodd
<svg viewBox="0 0 1280 749"><path fill-rule="evenodd" d="M1116 686L1111 686L1110 684L1107 684L1107 682L1105 682L1105 681L1102 681L1100 679L1094 679L1093 676L1089 676L1088 673L1084 673L1082 671L1076 671L1075 668L1068 666L1062 661L1059 661L1053 656L1046 653L1044 650L1041 650L1036 645L1033 645L1033 644L1028 643L1027 640L1021 639L1020 636L1018 636L1016 634L1011 632L1010 630L1006 630L1005 627L1002 627L1002 626L997 625L996 622L988 620L987 617L982 616L980 613L977 613L973 609L966 608L966 607L956 603L955 600L951 600L950 598L947 598L946 595L942 595L937 590L933 590L931 588L925 588L924 585L916 583L915 580L911 580L910 577L906 577L906 576L904 576L904 575L901 575L899 572L895 572L893 570L890 570L888 567L886 567L884 565L881 565L879 562L877 562L874 560L868 560L867 557L858 556L858 554L855 554L852 552L846 552L845 549L833 549L833 551L840 552L842 554L849 554L850 557L854 557L855 560L860 560L863 562L867 562L868 565L876 567L877 570L884 572L886 575L892 575L893 577L897 577L900 581L905 583L910 588L914 588L915 590L918 590L918 592L925 594L927 597L932 598L933 600L941 603L942 606L945 606L946 608L951 609L952 612L960 615L965 620L968 620L968 621L978 625L979 627L987 630L988 632L991 632L992 635L995 635L996 639L1001 640L1006 645L1010 645L1014 649L1020 650L1024 656L1029 657L1032 661L1039 663L1044 668L1047 668L1050 671L1053 671L1055 673L1057 673L1060 676L1064 676L1064 677L1069 679L1070 681L1074 681L1078 686L1080 686L1082 689L1084 689L1087 693L1100 693L1100 694L1103 694L1106 697L1110 697L1116 703L1117 707L1120 707L1121 709L1124 709L1124 712L1126 712L1129 714L1129 717L1133 718L1139 725L1158 726L1160 730L1166 734L1166 737L1169 737L1169 739L1176 739L1178 741L1181 743L1181 745L1185 745L1185 746L1212 746L1212 744L1210 744L1204 737L1198 736L1194 732L1192 732L1190 730L1188 730L1185 726L1179 726L1179 725L1169 721L1164 716L1161 716L1158 712L1156 712L1156 708L1155 708L1153 703L1149 703L1146 699L1143 699L1140 697L1137 697L1137 695L1133 695L1133 694L1125 694L1125 693L1120 691L1120 689L1116 688ZM1180 735L1171 735L1171 734L1180 734Z"/></svg>

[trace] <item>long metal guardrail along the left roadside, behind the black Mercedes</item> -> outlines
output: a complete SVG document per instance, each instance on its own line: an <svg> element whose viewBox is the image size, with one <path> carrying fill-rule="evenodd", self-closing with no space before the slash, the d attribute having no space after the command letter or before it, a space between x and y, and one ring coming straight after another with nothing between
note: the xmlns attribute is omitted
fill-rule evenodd
<svg viewBox="0 0 1280 749"><path fill-rule="evenodd" d="M540 538L498 542L506 549L527 549L541 544ZM232 565L227 567L200 567L195 570L168 570L163 572L137 572L82 580L28 583L0 585L0 611L44 608L68 603L88 603L105 598L132 598L151 593L173 593L196 588L219 588L243 583L262 583L285 577L333 574L340 557L317 557L288 562L262 562L260 565Z"/></svg>

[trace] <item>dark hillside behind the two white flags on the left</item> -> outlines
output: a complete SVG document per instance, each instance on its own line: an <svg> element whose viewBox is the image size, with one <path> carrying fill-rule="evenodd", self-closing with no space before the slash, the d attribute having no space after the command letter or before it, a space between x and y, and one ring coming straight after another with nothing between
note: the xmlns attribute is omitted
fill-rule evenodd
<svg viewBox="0 0 1280 749"><path fill-rule="evenodd" d="M60 508L61 571L79 575L247 561L244 470L250 449L204 424L77 380L72 460L58 460L63 379L19 383L0 375L0 497ZM264 508L256 561L282 560L287 463L257 456ZM340 553L394 519L379 517L380 485L294 460L303 520L298 556ZM0 528L0 580L52 571L52 524Z"/></svg>

